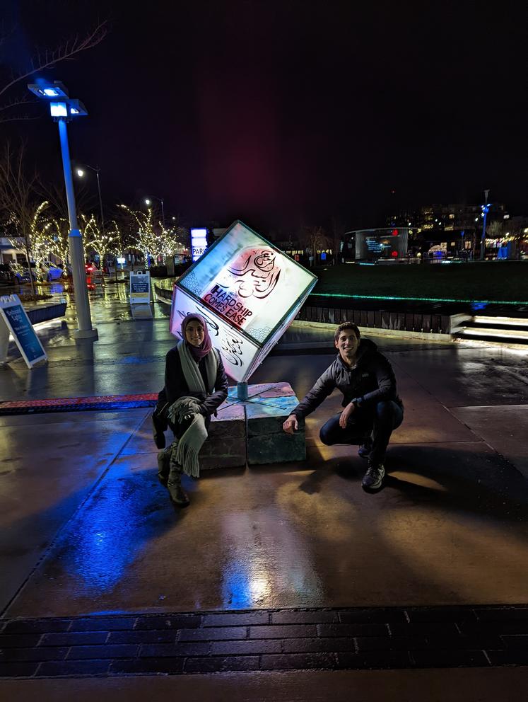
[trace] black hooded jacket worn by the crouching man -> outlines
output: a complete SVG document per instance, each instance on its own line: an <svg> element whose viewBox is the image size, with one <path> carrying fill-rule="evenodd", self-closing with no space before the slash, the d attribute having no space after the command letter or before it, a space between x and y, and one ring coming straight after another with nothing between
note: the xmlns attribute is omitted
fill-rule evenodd
<svg viewBox="0 0 528 702"><path fill-rule="evenodd" d="M361 339L356 365L348 367L341 355L317 380L310 392L293 410L298 419L312 413L335 389L343 393L343 407L353 402L357 408L368 410L382 400L394 400L401 408L392 366L370 339Z"/></svg>

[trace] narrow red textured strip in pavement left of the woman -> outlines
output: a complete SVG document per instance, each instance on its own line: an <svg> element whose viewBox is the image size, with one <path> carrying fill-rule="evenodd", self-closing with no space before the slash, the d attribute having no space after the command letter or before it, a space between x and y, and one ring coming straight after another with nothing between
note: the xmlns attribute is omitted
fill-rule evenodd
<svg viewBox="0 0 528 702"><path fill-rule="evenodd" d="M45 400L13 400L0 402L0 415L25 415L42 412L79 412L84 410L116 410L154 407L158 393L141 395L100 395L93 397L61 397Z"/></svg>

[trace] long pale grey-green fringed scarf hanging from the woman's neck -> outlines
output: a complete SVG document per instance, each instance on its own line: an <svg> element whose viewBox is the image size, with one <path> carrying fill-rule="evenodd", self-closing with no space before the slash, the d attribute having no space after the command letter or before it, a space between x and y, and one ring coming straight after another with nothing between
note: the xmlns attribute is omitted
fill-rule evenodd
<svg viewBox="0 0 528 702"><path fill-rule="evenodd" d="M206 358L206 388L204 385L204 380L201 377L201 373L198 370L198 366L192 359L190 349L191 345L184 341L180 341L180 343L177 345L185 382L187 383L187 386L189 386L189 392L208 395L213 391L216 381L216 373L218 369L218 357L216 356L216 351L211 348L211 353ZM183 473L185 473L187 476L192 476L192 478L199 478L200 464L198 461L198 454L207 438L205 418L200 412L199 400L189 396L180 397L177 399L177 401L175 401L175 403L170 405L170 408L168 409L168 416L173 424L192 418L191 425L184 432L181 439L177 442L177 444L176 442L172 444L172 450L174 451L172 455L174 456L176 463L179 466L182 466Z"/></svg>

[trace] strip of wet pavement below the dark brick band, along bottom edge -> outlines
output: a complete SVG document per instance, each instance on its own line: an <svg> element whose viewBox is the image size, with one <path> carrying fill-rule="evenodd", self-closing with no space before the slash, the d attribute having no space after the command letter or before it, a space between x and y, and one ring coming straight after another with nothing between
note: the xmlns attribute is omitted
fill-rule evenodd
<svg viewBox="0 0 528 702"><path fill-rule="evenodd" d="M91 677L4 681L9 700L23 702L143 702L180 696L187 702L518 702L527 691L526 669L462 668L235 672L172 677Z"/></svg>

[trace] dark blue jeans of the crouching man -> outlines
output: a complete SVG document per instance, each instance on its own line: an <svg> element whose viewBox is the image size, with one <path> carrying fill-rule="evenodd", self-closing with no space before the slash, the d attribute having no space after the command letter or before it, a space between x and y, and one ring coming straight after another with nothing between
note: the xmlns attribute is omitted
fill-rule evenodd
<svg viewBox="0 0 528 702"><path fill-rule="evenodd" d="M346 429L339 426L339 415L334 415L322 427L319 437L323 444L364 444L372 432L372 451L369 460L380 464L385 461L385 451L392 432L401 425L404 410L392 400L383 400L375 405L353 411Z"/></svg>

